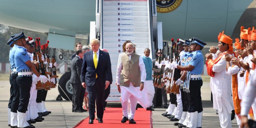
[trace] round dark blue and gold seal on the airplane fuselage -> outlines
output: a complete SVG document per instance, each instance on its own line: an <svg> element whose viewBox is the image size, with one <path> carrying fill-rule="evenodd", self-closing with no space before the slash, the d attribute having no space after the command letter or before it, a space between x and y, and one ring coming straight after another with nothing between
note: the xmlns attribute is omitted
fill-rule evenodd
<svg viewBox="0 0 256 128"><path fill-rule="evenodd" d="M182 0L156 0L156 10L159 13L168 13L177 9Z"/></svg>

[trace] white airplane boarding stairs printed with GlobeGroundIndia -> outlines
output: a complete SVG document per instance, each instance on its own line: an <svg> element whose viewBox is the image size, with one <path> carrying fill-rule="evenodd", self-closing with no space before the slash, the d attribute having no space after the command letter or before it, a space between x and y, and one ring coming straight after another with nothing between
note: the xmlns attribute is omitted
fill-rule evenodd
<svg viewBox="0 0 256 128"><path fill-rule="evenodd" d="M113 83L107 101L120 101L120 93L118 93L115 83L117 59L118 55L123 52L123 43L130 40L136 44L136 53L141 56L144 56L145 48L153 49L154 47L152 43L150 2L151 0L101 1L100 42L101 48L109 51L113 76ZM151 50L151 58L153 51Z"/></svg>

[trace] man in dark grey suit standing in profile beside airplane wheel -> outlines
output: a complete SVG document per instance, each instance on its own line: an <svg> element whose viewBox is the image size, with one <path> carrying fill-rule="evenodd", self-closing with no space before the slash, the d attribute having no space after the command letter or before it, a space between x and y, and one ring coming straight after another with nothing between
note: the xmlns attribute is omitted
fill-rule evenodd
<svg viewBox="0 0 256 128"><path fill-rule="evenodd" d="M83 104L85 88L82 87L81 83L82 61L80 59L83 57L83 53L81 49L78 49L75 53L76 56L71 61L70 77L70 83L73 86L72 112L84 112L81 107Z"/></svg>

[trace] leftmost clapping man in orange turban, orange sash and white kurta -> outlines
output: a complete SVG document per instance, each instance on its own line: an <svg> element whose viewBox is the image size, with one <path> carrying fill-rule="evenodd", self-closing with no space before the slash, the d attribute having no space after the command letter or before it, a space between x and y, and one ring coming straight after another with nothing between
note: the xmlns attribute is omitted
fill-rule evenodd
<svg viewBox="0 0 256 128"><path fill-rule="evenodd" d="M206 54L206 65L208 74L211 77L210 86L213 95L213 109L218 110L219 120L222 128L231 128L231 111L233 103L231 101L231 76L226 74L226 59L225 54L229 56L233 54L232 39L222 34L219 37L218 43L219 55L212 60L211 54Z"/></svg>

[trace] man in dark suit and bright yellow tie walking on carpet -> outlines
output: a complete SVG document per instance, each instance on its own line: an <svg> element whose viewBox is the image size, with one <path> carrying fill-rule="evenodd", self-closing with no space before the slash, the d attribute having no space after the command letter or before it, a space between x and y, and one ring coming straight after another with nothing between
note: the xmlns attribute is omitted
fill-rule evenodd
<svg viewBox="0 0 256 128"><path fill-rule="evenodd" d="M98 122L103 123L103 94L111 80L111 62L109 53L101 51L100 41L90 41L92 51L83 56L81 81L89 94L89 124L93 124L95 118L95 100L97 104Z"/></svg>

